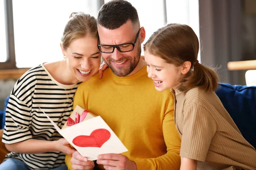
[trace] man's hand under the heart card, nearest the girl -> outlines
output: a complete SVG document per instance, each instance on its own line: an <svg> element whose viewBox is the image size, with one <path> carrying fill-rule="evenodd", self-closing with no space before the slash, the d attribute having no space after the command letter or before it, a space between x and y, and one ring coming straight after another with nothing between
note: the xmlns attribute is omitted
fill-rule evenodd
<svg viewBox="0 0 256 170"><path fill-rule="evenodd" d="M104 165L106 170L137 170L136 163L121 154L102 154L98 156L97 164Z"/></svg>

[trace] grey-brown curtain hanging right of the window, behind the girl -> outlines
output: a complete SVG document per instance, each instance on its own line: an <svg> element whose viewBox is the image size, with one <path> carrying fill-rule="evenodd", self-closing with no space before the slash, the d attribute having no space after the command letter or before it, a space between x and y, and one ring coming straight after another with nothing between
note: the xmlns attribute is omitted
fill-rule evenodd
<svg viewBox="0 0 256 170"><path fill-rule="evenodd" d="M199 0L201 63L221 67L221 82L245 84L241 71L227 70L227 62L242 59L242 14L242 0Z"/></svg>

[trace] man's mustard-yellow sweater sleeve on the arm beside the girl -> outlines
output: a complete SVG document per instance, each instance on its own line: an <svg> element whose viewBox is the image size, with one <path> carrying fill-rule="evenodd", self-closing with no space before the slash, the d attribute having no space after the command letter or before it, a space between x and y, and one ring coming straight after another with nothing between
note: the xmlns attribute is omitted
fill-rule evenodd
<svg viewBox="0 0 256 170"><path fill-rule="evenodd" d="M172 94L170 94L172 95ZM163 137L167 153L157 158L135 161L137 170L179 170L180 169L180 135L174 123L174 99L166 104L166 113L163 118Z"/></svg>

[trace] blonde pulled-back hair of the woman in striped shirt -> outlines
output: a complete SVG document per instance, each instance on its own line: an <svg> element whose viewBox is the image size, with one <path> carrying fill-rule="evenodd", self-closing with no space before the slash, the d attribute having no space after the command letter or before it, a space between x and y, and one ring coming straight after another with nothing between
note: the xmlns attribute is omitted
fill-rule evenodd
<svg viewBox="0 0 256 170"><path fill-rule="evenodd" d="M61 37L63 48L67 49L74 38L85 36L98 38L96 18L84 12L73 12L70 14L70 20L68 20Z"/></svg>

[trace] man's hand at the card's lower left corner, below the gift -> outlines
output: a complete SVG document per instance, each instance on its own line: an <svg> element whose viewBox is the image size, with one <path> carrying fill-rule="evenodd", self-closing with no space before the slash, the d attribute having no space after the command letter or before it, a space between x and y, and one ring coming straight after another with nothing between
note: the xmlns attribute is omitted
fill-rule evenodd
<svg viewBox="0 0 256 170"><path fill-rule="evenodd" d="M70 162L72 163L73 170L90 170L95 166L93 161L88 161L88 159L81 156L78 151L73 153Z"/></svg>

